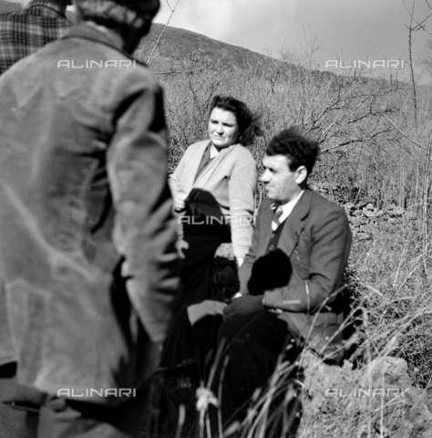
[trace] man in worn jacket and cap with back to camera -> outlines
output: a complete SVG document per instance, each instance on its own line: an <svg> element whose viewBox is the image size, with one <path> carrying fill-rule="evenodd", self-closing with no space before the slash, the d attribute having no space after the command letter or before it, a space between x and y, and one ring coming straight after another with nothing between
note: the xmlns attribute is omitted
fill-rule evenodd
<svg viewBox="0 0 432 438"><path fill-rule="evenodd" d="M0 77L0 272L17 356L0 379L2 438L142 436L180 282L163 92L129 68L159 0L74 5L77 26ZM89 60L100 65L69 68ZM25 426L36 415L23 433L14 410Z"/></svg>

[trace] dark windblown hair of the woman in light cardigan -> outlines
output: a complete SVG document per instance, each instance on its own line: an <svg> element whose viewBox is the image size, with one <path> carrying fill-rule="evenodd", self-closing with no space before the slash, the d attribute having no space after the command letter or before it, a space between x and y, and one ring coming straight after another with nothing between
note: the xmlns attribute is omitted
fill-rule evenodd
<svg viewBox="0 0 432 438"><path fill-rule="evenodd" d="M231 111L239 125L238 142L243 146L252 144L255 137L263 135L261 120L262 112L252 112L242 100L231 98L230 96L215 96L211 100L210 112L214 108Z"/></svg>

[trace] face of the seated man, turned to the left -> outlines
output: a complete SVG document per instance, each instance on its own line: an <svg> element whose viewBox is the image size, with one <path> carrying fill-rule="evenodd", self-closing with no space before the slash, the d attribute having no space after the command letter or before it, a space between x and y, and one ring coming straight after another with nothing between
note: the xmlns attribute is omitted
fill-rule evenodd
<svg viewBox="0 0 432 438"><path fill-rule="evenodd" d="M262 160L264 172L260 178L267 189L267 197L276 203L288 203L302 191L307 171L300 166L294 172L288 167L285 155L265 155Z"/></svg>

